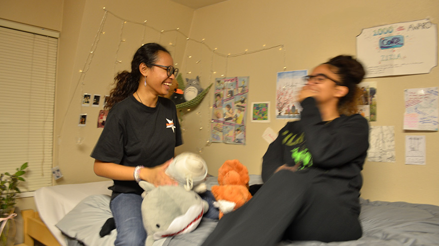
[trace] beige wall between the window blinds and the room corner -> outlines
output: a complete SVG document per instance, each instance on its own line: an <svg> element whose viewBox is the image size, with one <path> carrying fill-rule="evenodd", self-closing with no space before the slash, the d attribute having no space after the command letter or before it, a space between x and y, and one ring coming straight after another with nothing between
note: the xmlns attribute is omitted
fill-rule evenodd
<svg viewBox="0 0 439 246"><path fill-rule="evenodd" d="M54 165L60 167L64 177L55 184L103 180L94 174L94 160L90 157L102 131L97 128L97 119L103 103L99 108L82 107L81 97L84 93L99 94L102 99L108 95L114 74L130 69L132 56L143 43L163 43L173 54L174 62L181 63L185 47L169 45L175 41L175 32L160 30L180 28L189 33L194 12L168 0L83 2L83 7L72 13L71 7L77 6L77 1L65 1L54 141ZM146 27L142 25L145 20ZM181 35L177 38L183 39ZM87 114L86 127L77 126L80 114Z"/></svg>

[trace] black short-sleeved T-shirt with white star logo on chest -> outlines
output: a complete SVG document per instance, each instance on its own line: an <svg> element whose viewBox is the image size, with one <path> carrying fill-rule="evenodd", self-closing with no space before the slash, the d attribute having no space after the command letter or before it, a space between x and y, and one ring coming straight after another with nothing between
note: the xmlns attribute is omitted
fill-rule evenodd
<svg viewBox="0 0 439 246"><path fill-rule="evenodd" d="M91 157L123 166L155 167L174 157L174 148L183 143L175 104L159 97L155 108L129 96L115 104ZM114 180L116 193L141 194L135 181Z"/></svg>

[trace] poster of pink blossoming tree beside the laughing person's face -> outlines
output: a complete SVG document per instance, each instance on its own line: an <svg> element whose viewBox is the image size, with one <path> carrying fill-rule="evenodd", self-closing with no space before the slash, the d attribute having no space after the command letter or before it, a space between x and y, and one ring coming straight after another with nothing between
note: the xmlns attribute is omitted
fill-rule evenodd
<svg viewBox="0 0 439 246"><path fill-rule="evenodd" d="M302 107L297 98L305 84L303 77L307 74L308 70L277 73L276 119L300 119Z"/></svg>

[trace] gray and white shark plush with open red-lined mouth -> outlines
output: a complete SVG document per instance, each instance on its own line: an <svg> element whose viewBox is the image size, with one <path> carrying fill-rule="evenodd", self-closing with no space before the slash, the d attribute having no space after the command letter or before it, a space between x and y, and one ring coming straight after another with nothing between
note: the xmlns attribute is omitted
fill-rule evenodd
<svg viewBox="0 0 439 246"><path fill-rule="evenodd" d="M155 187L145 181L139 185L145 190L142 194L143 226L148 235L145 246L165 237L192 232L209 209L208 202L200 195L182 186Z"/></svg>

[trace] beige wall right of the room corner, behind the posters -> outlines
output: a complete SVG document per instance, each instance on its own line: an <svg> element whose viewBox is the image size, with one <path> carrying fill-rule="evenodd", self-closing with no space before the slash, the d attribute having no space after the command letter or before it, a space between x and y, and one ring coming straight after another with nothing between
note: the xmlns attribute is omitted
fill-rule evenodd
<svg viewBox="0 0 439 246"><path fill-rule="evenodd" d="M363 28L430 18L439 22L437 0L228 0L195 11L191 38L202 40L222 54L256 51L275 45L285 46L287 70L312 69L330 57L355 55L355 37ZM187 55L198 56L199 48L188 47ZM195 59L193 61L197 61ZM261 158L268 143L261 135L267 127L278 131L286 121L275 120L276 72L284 66L278 49L228 59L215 56L213 70L226 76L250 76L249 102L271 101L271 123L248 123L245 146L213 143L205 146L209 129L211 97L185 116L185 145L179 150L197 151L216 174L226 159L239 159L250 173L259 174ZM187 70L202 73L203 84L209 79L210 59L203 66L188 60ZM197 73L195 73L197 74ZM219 76L218 76L219 77ZM394 125L396 162L366 162L362 196L372 200L409 201L439 205L439 133L404 131L404 89L438 86L439 70L429 74L370 78L378 92L377 122L370 125ZM201 114L198 114L201 112ZM200 116L201 115L201 116ZM250 120L247 115L247 120ZM203 127L200 130L200 126ZM425 135L427 165L405 165L405 136ZM201 138L201 139L200 139Z"/></svg>

